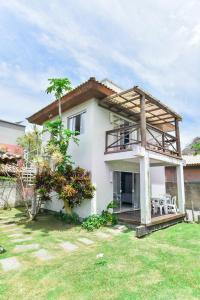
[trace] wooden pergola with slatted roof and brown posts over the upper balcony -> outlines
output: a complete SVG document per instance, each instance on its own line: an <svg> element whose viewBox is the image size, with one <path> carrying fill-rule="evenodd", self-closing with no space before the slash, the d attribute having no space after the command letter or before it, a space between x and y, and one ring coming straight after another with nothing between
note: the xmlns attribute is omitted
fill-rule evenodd
<svg viewBox="0 0 200 300"><path fill-rule="evenodd" d="M161 103L158 99L135 86L121 93L112 94L102 100L99 105L140 123L141 145L146 147L147 124L164 133L175 131L177 152L181 156L179 121L181 116Z"/></svg>

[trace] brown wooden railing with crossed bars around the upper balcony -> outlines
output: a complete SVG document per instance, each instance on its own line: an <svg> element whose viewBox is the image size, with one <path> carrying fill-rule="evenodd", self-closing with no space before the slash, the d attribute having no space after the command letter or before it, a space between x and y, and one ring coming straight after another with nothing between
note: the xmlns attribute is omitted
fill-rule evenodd
<svg viewBox="0 0 200 300"><path fill-rule="evenodd" d="M140 124L106 131L105 144L105 153L132 150L134 144L141 144ZM181 156L177 138L149 124L146 126L146 149L166 155Z"/></svg>

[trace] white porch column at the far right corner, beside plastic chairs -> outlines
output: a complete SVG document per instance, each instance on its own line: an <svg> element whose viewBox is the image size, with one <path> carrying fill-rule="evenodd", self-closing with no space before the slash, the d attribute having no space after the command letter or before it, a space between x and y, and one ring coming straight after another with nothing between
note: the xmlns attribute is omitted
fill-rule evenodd
<svg viewBox="0 0 200 300"><path fill-rule="evenodd" d="M177 176L177 192L178 192L178 207L180 213L185 213L185 189L184 189L184 173L183 164L176 167Z"/></svg>

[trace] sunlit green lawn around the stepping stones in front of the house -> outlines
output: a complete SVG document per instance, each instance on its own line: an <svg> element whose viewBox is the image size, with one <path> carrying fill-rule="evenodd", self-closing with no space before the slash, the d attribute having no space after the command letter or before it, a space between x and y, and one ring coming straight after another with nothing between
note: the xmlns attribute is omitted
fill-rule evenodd
<svg viewBox="0 0 200 300"><path fill-rule="evenodd" d="M16 256L23 267L18 271L0 270L0 299L200 299L200 225L178 224L143 239L132 231L100 239L79 226L70 227L53 216L38 221L19 221L22 212L0 211L18 220L18 227L55 258L36 260L32 252L14 254L14 244L0 229L0 244L6 248L1 258ZM101 231L106 232L106 228ZM4 233L3 233L4 232ZM77 242L87 237L91 246ZM61 241L79 248L66 253ZM24 242L25 243L25 242ZM103 253L103 258L96 255Z"/></svg>

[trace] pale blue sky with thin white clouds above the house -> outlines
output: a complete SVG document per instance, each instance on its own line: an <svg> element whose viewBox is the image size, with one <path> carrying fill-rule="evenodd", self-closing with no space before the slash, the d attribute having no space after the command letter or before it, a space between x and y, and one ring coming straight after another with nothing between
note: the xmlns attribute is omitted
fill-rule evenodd
<svg viewBox="0 0 200 300"><path fill-rule="evenodd" d="M139 85L200 135L199 0L7 0L0 4L0 118L50 103L48 78Z"/></svg>

